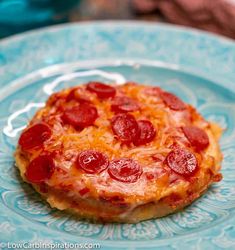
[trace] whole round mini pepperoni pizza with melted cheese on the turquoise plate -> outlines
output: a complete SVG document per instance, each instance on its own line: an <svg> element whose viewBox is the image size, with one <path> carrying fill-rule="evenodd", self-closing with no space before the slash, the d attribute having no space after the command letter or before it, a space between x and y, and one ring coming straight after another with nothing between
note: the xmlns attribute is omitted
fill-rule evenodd
<svg viewBox="0 0 235 250"><path fill-rule="evenodd" d="M159 87L89 82L50 96L15 159L51 207L136 223L191 204L222 179L220 135Z"/></svg>

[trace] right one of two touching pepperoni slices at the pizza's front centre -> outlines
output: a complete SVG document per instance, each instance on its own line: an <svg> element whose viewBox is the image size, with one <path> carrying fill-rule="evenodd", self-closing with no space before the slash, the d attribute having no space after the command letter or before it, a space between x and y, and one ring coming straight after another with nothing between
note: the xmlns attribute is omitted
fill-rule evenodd
<svg viewBox="0 0 235 250"><path fill-rule="evenodd" d="M117 181L133 183L140 178L143 170L134 160L121 158L110 162L108 173Z"/></svg>

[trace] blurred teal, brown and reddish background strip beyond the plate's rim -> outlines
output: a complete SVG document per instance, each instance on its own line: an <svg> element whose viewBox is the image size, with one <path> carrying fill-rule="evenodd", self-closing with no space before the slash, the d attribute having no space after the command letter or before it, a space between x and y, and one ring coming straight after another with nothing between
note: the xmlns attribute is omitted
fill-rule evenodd
<svg viewBox="0 0 235 250"><path fill-rule="evenodd" d="M235 39L235 0L0 0L0 39L53 24L107 19L175 23Z"/></svg>

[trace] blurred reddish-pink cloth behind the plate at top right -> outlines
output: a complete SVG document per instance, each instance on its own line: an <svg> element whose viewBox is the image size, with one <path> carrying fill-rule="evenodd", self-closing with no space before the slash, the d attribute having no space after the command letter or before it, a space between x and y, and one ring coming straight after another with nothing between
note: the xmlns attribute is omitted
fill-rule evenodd
<svg viewBox="0 0 235 250"><path fill-rule="evenodd" d="M170 22L235 38L234 0L132 0L139 14L160 11Z"/></svg>

